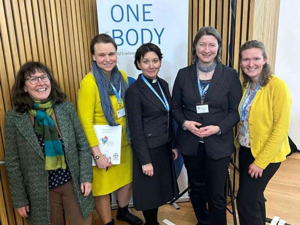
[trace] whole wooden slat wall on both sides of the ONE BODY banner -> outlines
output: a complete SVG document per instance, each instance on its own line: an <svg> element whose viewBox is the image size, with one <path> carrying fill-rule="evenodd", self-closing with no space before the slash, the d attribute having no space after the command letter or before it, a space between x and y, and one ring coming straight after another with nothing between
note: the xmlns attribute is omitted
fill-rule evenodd
<svg viewBox="0 0 300 225"><path fill-rule="evenodd" d="M279 4L280 0L237 0L232 43L235 69L238 70L239 46L253 37L266 43L274 67ZM232 19L230 0L189 0L189 64L193 37L202 26L214 26L220 32L222 62L228 64ZM67 99L76 105L80 81L90 70L89 43L96 33L95 0L0 0L0 160L4 160L4 113L12 107L11 88L19 67L29 60L45 63ZM3 166L0 167L0 223L26 224L12 208Z"/></svg>

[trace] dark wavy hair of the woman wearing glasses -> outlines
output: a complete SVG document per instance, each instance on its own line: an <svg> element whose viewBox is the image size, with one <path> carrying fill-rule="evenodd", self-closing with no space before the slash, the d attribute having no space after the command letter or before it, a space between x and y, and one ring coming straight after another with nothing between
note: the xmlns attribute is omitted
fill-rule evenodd
<svg viewBox="0 0 300 225"><path fill-rule="evenodd" d="M11 90L13 106L17 112L24 113L32 109L32 100L29 97L29 94L25 92L24 86L26 78L30 76L31 73L35 73L36 70L45 72L49 75L51 84L50 96L53 100L63 102L67 97L67 95L61 90L58 82L54 79L52 72L48 67L41 62L29 61L20 67Z"/></svg>

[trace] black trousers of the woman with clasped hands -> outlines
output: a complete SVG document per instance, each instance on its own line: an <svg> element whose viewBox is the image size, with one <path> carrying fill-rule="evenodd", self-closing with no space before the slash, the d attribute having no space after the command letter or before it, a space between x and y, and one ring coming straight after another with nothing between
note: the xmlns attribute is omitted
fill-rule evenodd
<svg viewBox="0 0 300 225"><path fill-rule="evenodd" d="M190 201L200 224L226 225L225 184L230 155L217 160L207 158L204 143L196 156L183 155L190 183ZM208 203L208 213L206 203Z"/></svg>

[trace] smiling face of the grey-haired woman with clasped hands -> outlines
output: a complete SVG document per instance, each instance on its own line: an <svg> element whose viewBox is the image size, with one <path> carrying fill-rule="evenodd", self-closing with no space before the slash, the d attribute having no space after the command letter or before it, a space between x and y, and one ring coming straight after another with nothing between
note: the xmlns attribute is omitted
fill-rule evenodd
<svg viewBox="0 0 300 225"><path fill-rule="evenodd" d="M196 54L200 63L209 66L218 53L218 41L213 35L203 35L196 43Z"/></svg>

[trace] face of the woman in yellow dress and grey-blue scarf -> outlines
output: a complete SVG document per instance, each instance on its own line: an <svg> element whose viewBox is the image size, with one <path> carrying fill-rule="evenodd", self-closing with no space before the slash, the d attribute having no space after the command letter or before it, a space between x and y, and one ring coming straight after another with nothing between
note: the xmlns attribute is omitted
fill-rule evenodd
<svg viewBox="0 0 300 225"><path fill-rule="evenodd" d="M94 46L95 54L93 60L97 66L107 75L110 76L111 71L117 64L117 52L112 43L97 43Z"/></svg>

